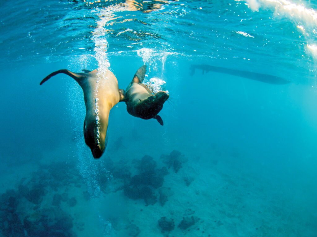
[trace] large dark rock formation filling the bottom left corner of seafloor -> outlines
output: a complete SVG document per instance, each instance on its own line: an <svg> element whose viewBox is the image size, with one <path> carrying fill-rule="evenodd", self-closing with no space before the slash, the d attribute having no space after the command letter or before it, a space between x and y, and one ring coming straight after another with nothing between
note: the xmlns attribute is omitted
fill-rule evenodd
<svg viewBox="0 0 317 237"><path fill-rule="evenodd" d="M23 178L17 191L8 190L2 194L0 236L74 237L72 218L59 207L61 201L68 201L67 193L55 193L51 208L43 208L42 203L48 190L58 191L69 183L81 181L74 166L74 163L65 162L43 165L30 178ZM71 199L69 204L74 206L76 199Z"/></svg>

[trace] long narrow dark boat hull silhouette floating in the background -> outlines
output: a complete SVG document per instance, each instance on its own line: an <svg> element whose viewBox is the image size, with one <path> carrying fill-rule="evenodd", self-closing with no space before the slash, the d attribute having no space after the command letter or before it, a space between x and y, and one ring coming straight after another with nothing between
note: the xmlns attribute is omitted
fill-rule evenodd
<svg viewBox="0 0 317 237"><path fill-rule="evenodd" d="M211 66L207 64L200 64L200 65L192 64L191 67L189 68L189 74L193 76L195 74L196 69L202 70L203 75L205 72L213 71L213 72L220 72L220 73L229 74L233 76L241 76L244 78L248 78L248 79L259 81L259 82L265 82L269 84L283 85L283 84L290 83L290 81L287 81L278 76L272 76L272 75L256 73L256 72L241 71L241 70L235 70L235 69L229 69L229 68L223 68L223 67L215 67L215 66Z"/></svg>

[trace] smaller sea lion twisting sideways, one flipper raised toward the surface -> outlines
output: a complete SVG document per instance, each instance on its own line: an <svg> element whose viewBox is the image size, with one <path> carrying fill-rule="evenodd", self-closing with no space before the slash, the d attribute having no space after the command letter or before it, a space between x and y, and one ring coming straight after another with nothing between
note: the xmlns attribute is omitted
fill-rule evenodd
<svg viewBox="0 0 317 237"><path fill-rule="evenodd" d="M153 94L145 84L142 84L146 73L146 65L140 67L133 76L132 82L126 88L126 110L129 114L141 119L156 119L160 125L163 120L158 113L163 108L169 95L166 91Z"/></svg>

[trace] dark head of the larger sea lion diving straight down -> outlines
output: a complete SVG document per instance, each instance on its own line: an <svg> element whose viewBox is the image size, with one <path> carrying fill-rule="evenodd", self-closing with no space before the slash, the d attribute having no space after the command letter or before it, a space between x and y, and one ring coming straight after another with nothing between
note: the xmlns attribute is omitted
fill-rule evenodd
<svg viewBox="0 0 317 237"><path fill-rule="evenodd" d="M107 127L108 124L106 127L98 125L96 120L84 122L85 143L91 149L94 158L100 158L107 146Z"/></svg>

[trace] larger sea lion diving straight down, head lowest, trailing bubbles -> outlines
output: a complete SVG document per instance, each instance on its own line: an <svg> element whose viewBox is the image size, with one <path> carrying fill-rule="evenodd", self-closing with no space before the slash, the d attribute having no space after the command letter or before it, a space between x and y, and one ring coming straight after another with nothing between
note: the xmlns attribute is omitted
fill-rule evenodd
<svg viewBox="0 0 317 237"><path fill-rule="evenodd" d="M115 104L125 100L124 90L119 89L117 78L108 69L102 76L97 75L98 69L83 71L84 73L74 73L61 69L45 77L40 85L59 73L71 76L78 82L84 92L86 105L85 143L91 149L94 158L100 158L107 146L109 112Z"/></svg>

